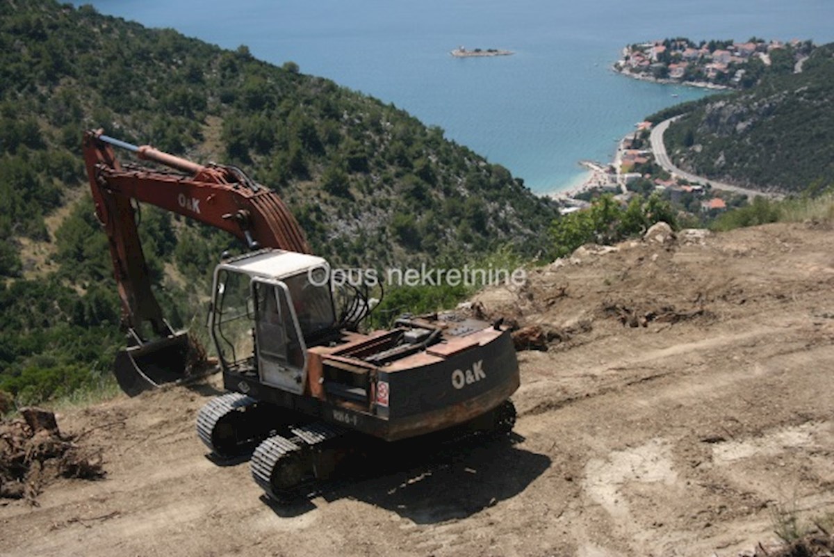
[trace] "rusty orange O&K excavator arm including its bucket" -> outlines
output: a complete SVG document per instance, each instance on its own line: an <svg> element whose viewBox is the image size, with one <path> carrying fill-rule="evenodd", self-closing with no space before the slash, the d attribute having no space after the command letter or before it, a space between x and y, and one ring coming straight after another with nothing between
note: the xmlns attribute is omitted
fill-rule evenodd
<svg viewBox="0 0 834 557"><path fill-rule="evenodd" d="M168 168L123 166L114 146ZM138 236L137 202L221 228L252 249L309 253L304 232L278 194L254 183L239 168L203 166L148 145L110 138L101 130L84 133L83 154L96 216L108 236L128 333L128 349L117 354L114 369L128 394L183 379L188 367L188 335L174 333L151 289ZM150 324L153 337L145 324Z"/></svg>

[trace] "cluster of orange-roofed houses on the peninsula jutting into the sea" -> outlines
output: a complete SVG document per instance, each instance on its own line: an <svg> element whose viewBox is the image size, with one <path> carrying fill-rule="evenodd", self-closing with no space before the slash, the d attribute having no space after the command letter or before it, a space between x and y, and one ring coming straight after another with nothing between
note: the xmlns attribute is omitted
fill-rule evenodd
<svg viewBox="0 0 834 557"><path fill-rule="evenodd" d="M631 44L613 69L631 78L704 88L750 88L767 73L798 73L811 54L810 40L786 43L750 38L746 43L666 38Z"/></svg>

